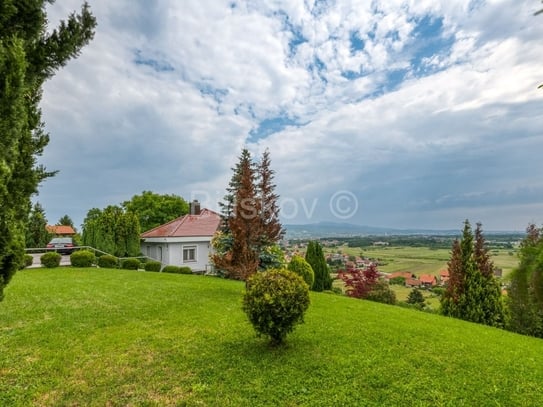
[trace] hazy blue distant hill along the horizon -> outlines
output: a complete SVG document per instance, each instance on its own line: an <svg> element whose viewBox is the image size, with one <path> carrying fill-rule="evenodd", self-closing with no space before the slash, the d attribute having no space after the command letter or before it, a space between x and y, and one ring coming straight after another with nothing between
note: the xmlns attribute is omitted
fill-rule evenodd
<svg viewBox="0 0 543 407"><path fill-rule="evenodd" d="M318 222L304 225L284 225L284 228L287 231L287 239L387 235L454 236L461 233L460 227L458 229L395 229L342 222ZM487 232L487 234L522 234L522 232L492 231Z"/></svg>

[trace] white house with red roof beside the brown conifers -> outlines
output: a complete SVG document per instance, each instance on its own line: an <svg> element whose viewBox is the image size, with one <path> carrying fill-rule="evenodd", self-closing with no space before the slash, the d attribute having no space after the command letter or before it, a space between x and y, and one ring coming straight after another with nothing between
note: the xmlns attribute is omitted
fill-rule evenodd
<svg viewBox="0 0 543 407"><path fill-rule="evenodd" d="M157 226L141 235L141 251L163 265L188 266L193 272L210 269L211 239L221 216L200 204L191 203L190 213Z"/></svg>

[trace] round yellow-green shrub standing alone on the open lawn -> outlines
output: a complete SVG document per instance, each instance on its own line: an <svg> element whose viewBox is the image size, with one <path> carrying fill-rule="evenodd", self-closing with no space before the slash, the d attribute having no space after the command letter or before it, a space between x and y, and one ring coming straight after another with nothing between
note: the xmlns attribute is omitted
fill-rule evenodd
<svg viewBox="0 0 543 407"><path fill-rule="evenodd" d="M272 345L284 342L296 324L304 322L309 307L306 282L289 270L269 269L247 280L243 311L258 336L268 336Z"/></svg>

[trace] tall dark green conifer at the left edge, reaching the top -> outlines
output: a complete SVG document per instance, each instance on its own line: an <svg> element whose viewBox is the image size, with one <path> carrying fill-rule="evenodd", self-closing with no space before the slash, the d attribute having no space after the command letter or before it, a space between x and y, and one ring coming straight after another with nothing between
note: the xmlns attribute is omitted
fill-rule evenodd
<svg viewBox="0 0 543 407"><path fill-rule="evenodd" d="M79 55L96 20L84 3L53 31L48 0L3 0L0 6L0 300L23 261L30 197L53 175L37 165L49 136L39 102L43 83Z"/></svg>

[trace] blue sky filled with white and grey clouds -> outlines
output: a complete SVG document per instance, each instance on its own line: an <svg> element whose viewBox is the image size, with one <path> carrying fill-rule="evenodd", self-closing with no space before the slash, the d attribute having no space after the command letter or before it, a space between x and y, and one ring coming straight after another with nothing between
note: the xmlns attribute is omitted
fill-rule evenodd
<svg viewBox="0 0 543 407"><path fill-rule="evenodd" d="M270 150L287 224L543 223L537 0L89 4L44 89L50 223L144 190L215 209L243 147Z"/></svg>

